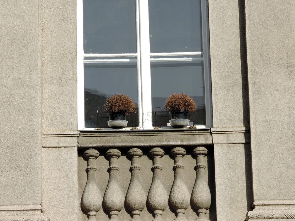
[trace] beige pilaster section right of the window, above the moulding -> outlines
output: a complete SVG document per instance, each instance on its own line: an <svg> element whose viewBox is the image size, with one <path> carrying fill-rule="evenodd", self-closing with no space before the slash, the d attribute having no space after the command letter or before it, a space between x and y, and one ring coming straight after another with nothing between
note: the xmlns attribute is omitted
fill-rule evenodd
<svg viewBox="0 0 295 221"><path fill-rule="evenodd" d="M241 27L243 21L240 21L240 2L209 0L214 127L248 124L245 36Z"/></svg>

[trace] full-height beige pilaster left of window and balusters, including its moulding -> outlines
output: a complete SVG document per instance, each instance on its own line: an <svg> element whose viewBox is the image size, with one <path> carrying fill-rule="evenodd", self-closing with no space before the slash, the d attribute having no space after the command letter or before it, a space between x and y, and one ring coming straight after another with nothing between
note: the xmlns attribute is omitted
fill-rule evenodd
<svg viewBox="0 0 295 221"><path fill-rule="evenodd" d="M41 0L40 16L43 213L77 220L76 0Z"/></svg>

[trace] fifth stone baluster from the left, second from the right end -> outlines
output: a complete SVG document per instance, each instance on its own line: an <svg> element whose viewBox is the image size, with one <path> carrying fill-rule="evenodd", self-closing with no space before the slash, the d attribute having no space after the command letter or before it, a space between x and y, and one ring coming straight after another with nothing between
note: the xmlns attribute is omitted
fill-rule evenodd
<svg viewBox="0 0 295 221"><path fill-rule="evenodd" d="M183 162L182 158L186 150L183 147L175 147L171 150L171 155L174 157L174 180L169 195L169 205L175 212L177 221L187 220L184 216L187 207L190 204L190 193L187 185L184 182Z"/></svg>

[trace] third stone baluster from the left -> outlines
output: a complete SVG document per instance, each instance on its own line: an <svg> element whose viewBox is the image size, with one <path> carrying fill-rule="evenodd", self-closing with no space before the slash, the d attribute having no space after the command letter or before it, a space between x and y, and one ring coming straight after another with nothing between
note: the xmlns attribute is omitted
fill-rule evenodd
<svg viewBox="0 0 295 221"><path fill-rule="evenodd" d="M140 180L140 157L142 149L131 148L127 155L131 158L131 177L129 187L125 197L125 207L131 214L132 220L140 220L140 213L143 211L146 203L146 195Z"/></svg>

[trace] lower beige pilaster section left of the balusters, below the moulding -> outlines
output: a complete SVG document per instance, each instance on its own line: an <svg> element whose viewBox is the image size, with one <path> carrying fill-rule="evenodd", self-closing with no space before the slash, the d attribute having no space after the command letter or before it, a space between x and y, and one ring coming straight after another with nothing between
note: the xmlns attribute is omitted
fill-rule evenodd
<svg viewBox="0 0 295 221"><path fill-rule="evenodd" d="M77 148L42 148L43 213L51 221L77 220L77 188Z"/></svg>

